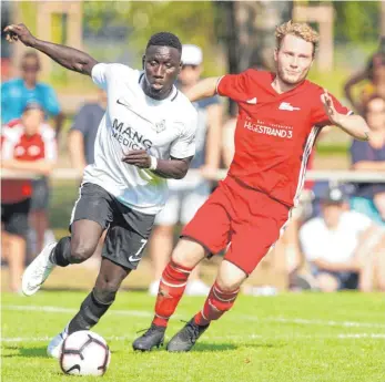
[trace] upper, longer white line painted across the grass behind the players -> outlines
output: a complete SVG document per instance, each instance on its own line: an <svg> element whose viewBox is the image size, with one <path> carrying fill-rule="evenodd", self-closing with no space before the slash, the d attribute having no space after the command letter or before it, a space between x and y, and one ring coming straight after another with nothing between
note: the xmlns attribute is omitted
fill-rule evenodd
<svg viewBox="0 0 385 382"><path fill-rule="evenodd" d="M73 308L60 308L60 307L39 307L39 306L2 306L2 310L19 310L19 311L42 311L50 313L77 313L78 309ZM110 310L110 314L116 316L132 316L132 317L153 317L152 312L144 310ZM175 314L174 318L181 318L181 314ZM259 321L259 322L282 322L282 323L295 323L295 324L311 324L323 327L343 327L343 328L379 328L385 329L385 323L378 322L356 322L356 321L333 321L333 320L308 320L302 318L282 318L282 317L267 317L257 318L250 314L231 314L225 316L226 320L239 322L241 320Z"/></svg>

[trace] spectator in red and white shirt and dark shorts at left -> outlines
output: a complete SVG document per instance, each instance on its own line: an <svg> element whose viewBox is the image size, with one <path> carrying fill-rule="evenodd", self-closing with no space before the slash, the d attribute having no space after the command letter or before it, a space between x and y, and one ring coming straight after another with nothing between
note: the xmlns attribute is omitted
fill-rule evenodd
<svg viewBox="0 0 385 382"><path fill-rule="evenodd" d="M28 172L29 176L51 172L57 158L54 131L43 123L43 118L41 106L32 103L27 105L19 122L2 128L2 168ZM31 197L32 182L29 179L4 179L1 183L1 221L8 247L10 289L14 292L20 289L24 267Z"/></svg>

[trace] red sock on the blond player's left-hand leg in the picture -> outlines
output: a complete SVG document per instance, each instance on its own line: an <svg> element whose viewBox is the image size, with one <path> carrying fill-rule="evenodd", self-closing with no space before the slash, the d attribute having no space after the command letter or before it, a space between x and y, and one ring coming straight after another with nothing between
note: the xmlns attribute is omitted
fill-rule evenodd
<svg viewBox="0 0 385 382"><path fill-rule="evenodd" d="M155 317L152 323L166 327L183 296L192 268L170 261L164 268L155 303Z"/></svg>

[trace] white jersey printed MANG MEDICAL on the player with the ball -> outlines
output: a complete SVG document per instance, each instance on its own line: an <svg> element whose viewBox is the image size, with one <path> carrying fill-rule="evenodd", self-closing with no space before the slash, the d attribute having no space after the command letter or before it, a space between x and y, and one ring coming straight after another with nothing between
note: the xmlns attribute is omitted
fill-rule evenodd
<svg viewBox="0 0 385 382"><path fill-rule="evenodd" d="M146 96L143 72L129 66L98 63L91 74L107 91L108 106L98 130L94 163L85 167L83 184L103 187L132 209L158 214L166 202L166 179L123 163L123 154L146 149L159 159L194 155L196 111L175 86L165 100Z"/></svg>

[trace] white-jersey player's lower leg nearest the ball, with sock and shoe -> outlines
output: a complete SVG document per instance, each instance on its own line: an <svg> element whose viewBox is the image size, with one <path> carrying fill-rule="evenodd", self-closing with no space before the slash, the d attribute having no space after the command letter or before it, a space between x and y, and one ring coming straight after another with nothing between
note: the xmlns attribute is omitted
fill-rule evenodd
<svg viewBox="0 0 385 382"><path fill-rule="evenodd" d="M131 269L124 268L111 260L103 258L97 282L92 291L87 296L80 306L79 312L72 318L64 330L55 335L47 348L50 357L58 358L60 348L65 338L79 330L90 330L111 307L116 292L131 272Z"/></svg>

